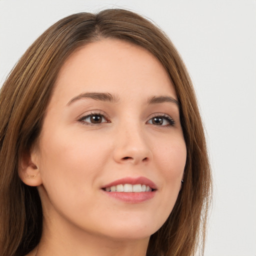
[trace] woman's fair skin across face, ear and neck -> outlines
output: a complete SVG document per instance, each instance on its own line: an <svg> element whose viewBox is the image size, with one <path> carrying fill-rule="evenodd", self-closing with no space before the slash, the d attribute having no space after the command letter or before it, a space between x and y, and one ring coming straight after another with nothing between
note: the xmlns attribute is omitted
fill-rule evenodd
<svg viewBox="0 0 256 256"><path fill-rule="evenodd" d="M145 255L185 166L176 101L164 67L139 46L102 39L68 57L22 159L20 176L37 186L43 208L42 237L28 255ZM151 187L106 191L123 178Z"/></svg>

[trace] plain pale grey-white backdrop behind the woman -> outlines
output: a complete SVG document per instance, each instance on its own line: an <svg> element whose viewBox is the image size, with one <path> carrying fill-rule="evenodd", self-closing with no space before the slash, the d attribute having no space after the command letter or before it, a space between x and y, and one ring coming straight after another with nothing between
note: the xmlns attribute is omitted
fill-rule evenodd
<svg viewBox="0 0 256 256"><path fill-rule="evenodd" d="M155 21L191 75L214 179L205 256L255 256L255 0L0 0L0 85L55 21L107 7Z"/></svg>

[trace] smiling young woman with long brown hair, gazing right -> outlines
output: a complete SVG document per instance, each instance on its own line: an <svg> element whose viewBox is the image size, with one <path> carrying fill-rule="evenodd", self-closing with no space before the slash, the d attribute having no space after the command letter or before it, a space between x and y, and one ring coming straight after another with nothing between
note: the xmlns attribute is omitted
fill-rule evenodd
<svg viewBox="0 0 256 256"><path fill-rule="evenodd" d="M148 20L122 9L59 20L6 79L0 109L1 255L203 251L200 115Z"/></svg>

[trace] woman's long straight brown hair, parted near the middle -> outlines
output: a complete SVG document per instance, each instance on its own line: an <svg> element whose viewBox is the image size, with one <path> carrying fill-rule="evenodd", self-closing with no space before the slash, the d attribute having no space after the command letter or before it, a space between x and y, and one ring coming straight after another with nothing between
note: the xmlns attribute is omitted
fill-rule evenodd
<svg viewBox="0 0 256 256"><path fill-rule="evenodd" d="M77 47L117 38L146 48L169 73L180 104L187 149L184 183L169 217L151 235L147 255L203 252L211 174L203 126L190 81L168 37L140 15L123 9L77 13L49 27L23 54L0 91L0 255L20 256L39 242L42 209L35 187L18 176L20 155L38 137L58 71ZM201 246L199 246L201 245Z"/></svg>

